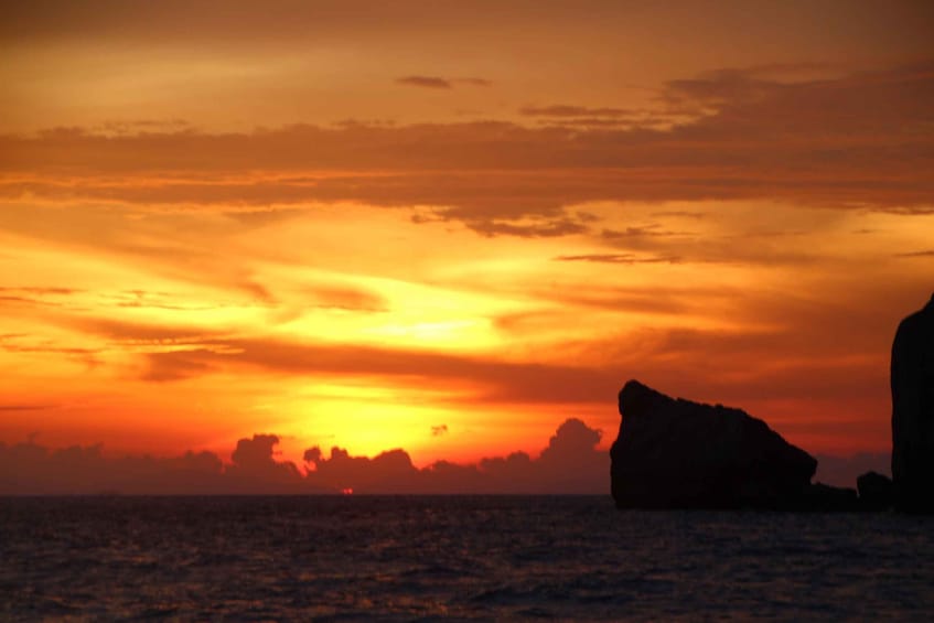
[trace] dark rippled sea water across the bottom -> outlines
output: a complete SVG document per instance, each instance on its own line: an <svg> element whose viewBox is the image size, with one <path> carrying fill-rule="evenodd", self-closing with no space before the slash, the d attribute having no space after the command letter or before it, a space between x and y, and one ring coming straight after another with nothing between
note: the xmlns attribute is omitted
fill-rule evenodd
<svg viewBox="0 0 934 623"><path fill-rule="evenodd" d="M608 497L0 500L0 619L931 620L934 518Z"/></svg>

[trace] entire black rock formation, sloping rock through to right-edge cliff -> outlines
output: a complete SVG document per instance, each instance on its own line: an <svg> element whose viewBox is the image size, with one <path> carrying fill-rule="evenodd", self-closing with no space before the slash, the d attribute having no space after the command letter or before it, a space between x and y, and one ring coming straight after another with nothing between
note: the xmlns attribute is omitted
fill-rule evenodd
<svg viewBox="0 0 934 623"><path fill-rule="evenodd" d="M619 508L934 512L934 297L892 346L892 474L813 483L817 460L745 411L630 380L610 451Z"/></svg>

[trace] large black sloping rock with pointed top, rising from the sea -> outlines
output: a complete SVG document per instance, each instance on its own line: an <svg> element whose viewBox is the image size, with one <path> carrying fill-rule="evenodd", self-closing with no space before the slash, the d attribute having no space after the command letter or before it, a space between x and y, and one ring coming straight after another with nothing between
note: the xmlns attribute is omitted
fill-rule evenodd
<svg viewBox="0 0 934 623"><path fill-rule="evenodd" d="M620 391L610 451L620 508L799 508L849 505L856 492L812 488L817 461L756 418L674 399L637 380Z"/></svg>

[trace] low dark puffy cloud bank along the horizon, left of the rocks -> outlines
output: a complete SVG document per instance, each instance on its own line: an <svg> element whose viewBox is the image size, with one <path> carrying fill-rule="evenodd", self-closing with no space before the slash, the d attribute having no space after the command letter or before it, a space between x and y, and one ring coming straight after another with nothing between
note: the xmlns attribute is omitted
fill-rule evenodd
<svg viewBox="0 0 934 623"><path fill-rule="evenodd" d="M0 494L608 493L609 454L599 441L599 431L570 419L539 459L515 452L419 470L401 449L371 459L332 448L325 458L315 447L304 452L304 471L277 460L275 434L240 439L226 466L211 452L107 458L99 444L49 450L31 439L0 443Z"/></svg>

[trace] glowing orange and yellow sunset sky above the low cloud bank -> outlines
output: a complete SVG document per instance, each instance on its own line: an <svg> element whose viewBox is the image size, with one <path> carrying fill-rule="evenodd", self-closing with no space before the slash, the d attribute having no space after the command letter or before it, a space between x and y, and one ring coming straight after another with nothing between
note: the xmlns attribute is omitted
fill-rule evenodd
<svg viewBox="0 0 934 623"><path fill-rule="evenodd" d="M4 2L0 442L417 465L638 378L890 448L934 3Z"/></svg>

